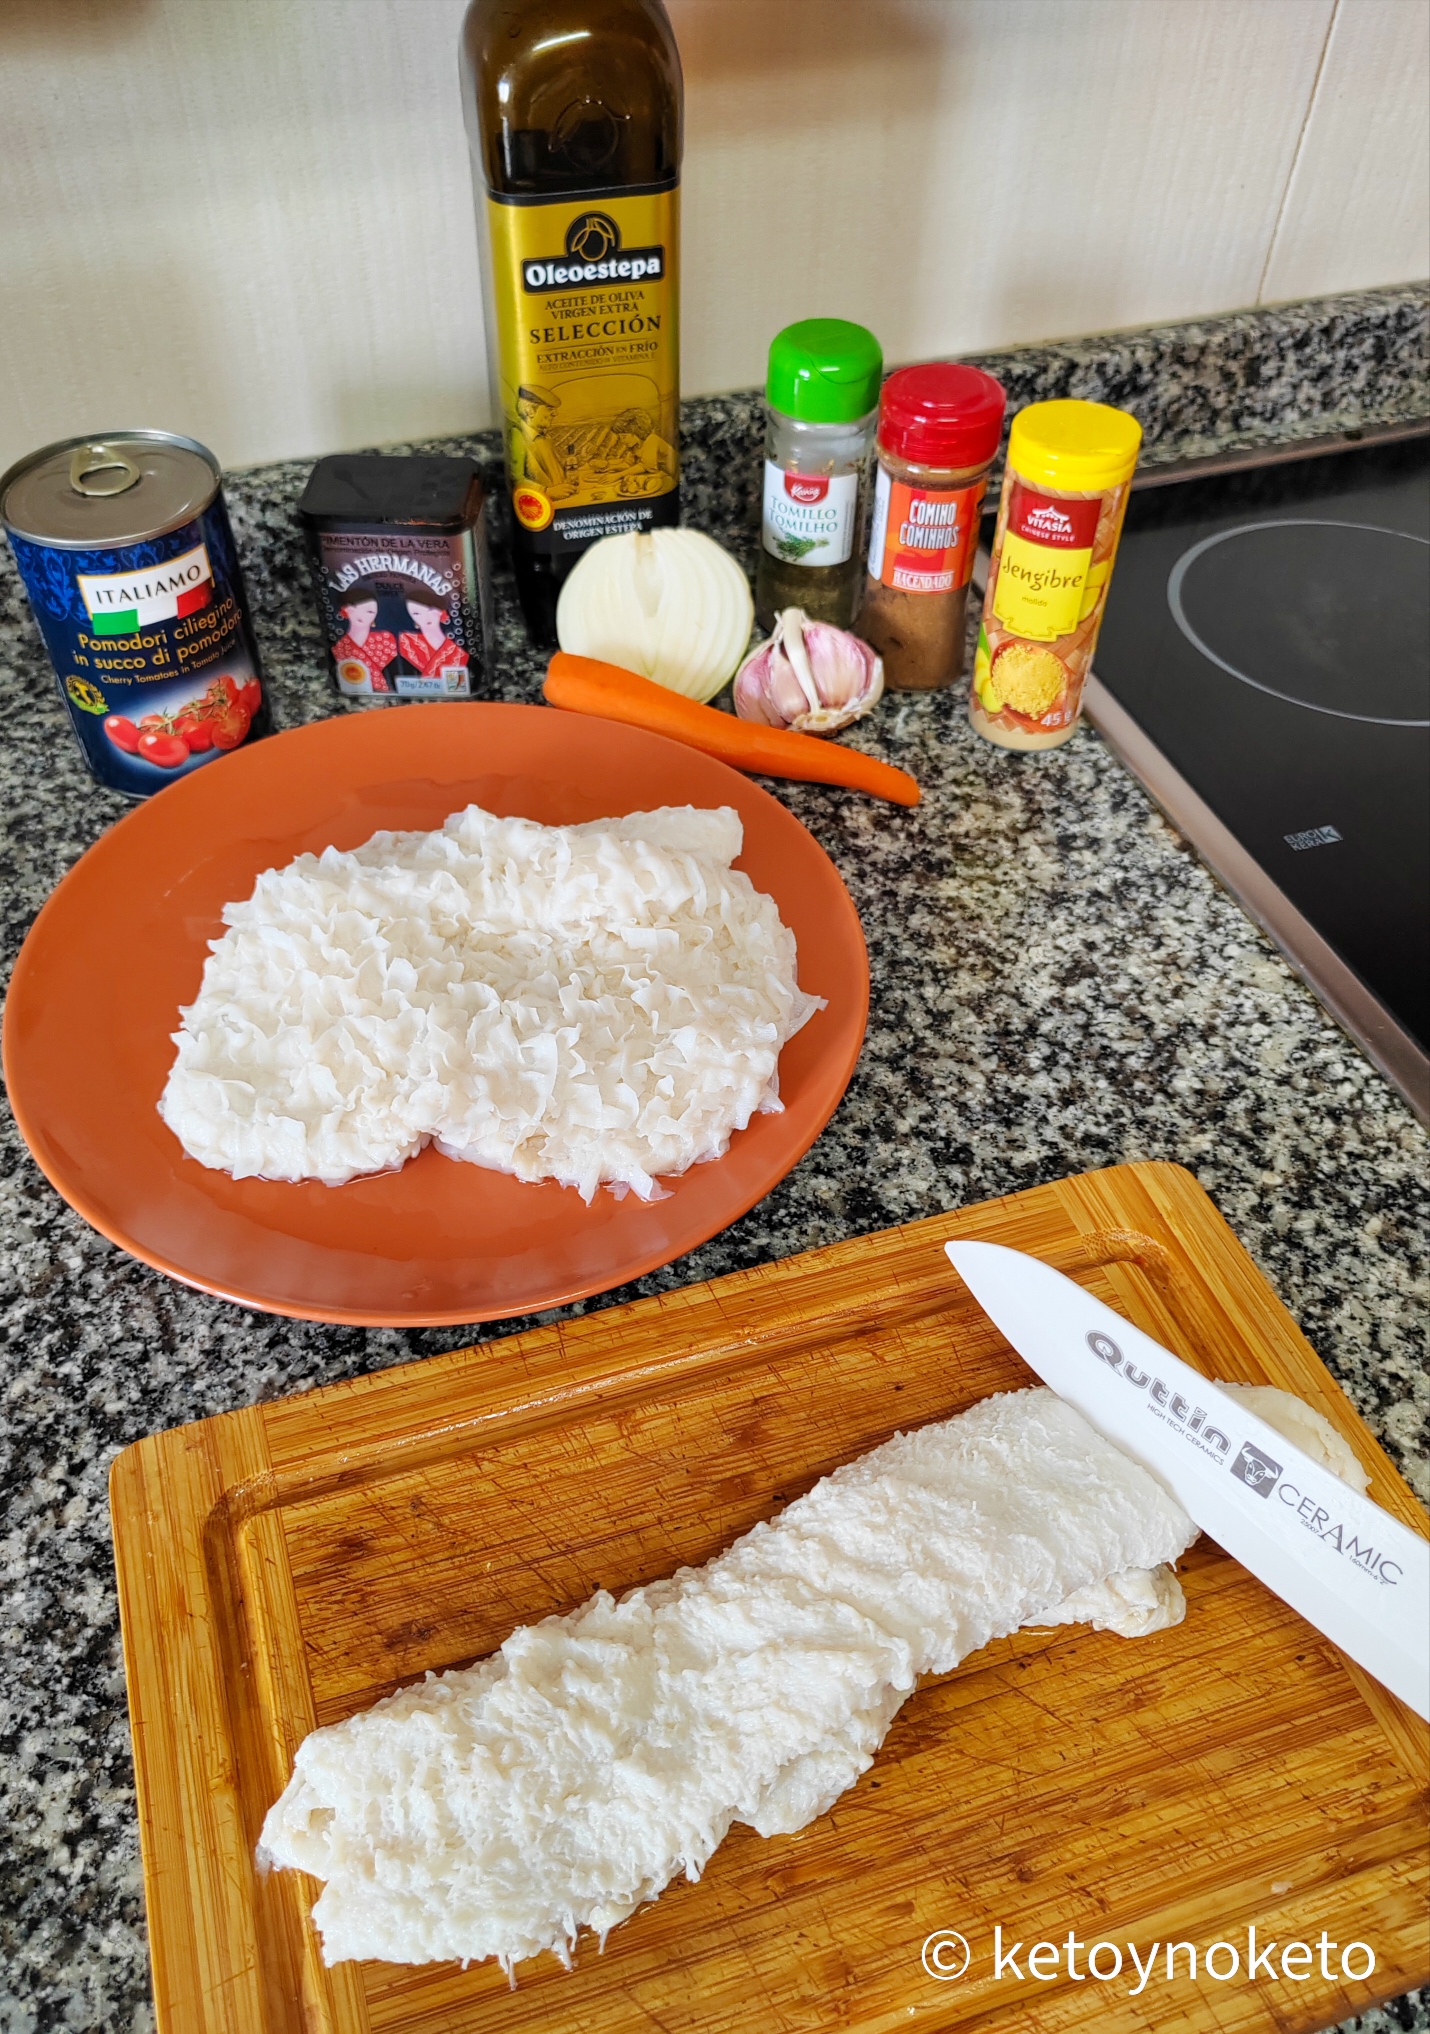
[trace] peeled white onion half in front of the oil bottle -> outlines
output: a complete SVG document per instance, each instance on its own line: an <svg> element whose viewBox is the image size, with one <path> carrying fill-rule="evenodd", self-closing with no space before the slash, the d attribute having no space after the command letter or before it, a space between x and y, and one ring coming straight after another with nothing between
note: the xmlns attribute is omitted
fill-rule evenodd
<svg viewBox="0 0 1430 2034"><path fill-rule="evenodd" d="M755 602L728 551L696 529L602 537L555 604L576 657L618 663L690 700L712 700L751 639Z"/></svg>

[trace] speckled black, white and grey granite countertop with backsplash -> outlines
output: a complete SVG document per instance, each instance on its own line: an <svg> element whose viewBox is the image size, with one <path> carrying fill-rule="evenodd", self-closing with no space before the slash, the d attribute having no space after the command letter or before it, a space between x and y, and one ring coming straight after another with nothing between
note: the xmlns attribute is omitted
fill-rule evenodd
<svg viewBox="0 0 1430 2034"><path fill-rule="evenodd" d="M1147 458L1168 460L1408 417L1424 407L1424 291L1397 289L982 364L1011 407L1127 403ZM759 435L753 395L686 405L688 519L751 565ZM431 450L496 460L490 435ZM281 726L344 710L295 539L305 474L228 482ZM543 659L504 574L496 590L492 696L533 700ZM0 692L8 978L39 905L126 810L83 771L8 551ZM832 854L869 938L873 1011L848 1096L751 1214L572 1312L1094 1165L1176 1159L1430 1501L1428 1141L1410 1111L1092 730L1009 755L970 732L960 690L891 696L852 738L917 775L917 812L775 787ZM153 2008L110 1462L142 1434L529 1322L332 1328L187 1292L87 1229L8 1115L0 1253L0 2034L140 2034ZM1353 2024L1428 2030L1428 1997Z"/></svg>

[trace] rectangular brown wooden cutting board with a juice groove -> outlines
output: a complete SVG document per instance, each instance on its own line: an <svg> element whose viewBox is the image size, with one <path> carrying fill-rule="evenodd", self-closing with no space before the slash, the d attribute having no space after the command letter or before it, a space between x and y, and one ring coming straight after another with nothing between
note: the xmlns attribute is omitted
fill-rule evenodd
<svg viewBox="0 0 1430 2034"><path fill-rule="evenodd" d="M952 1277L987 1237L1208 1377L1320 1405L1426 1519L1190 1174L1121 1165L708 1285L203 1420L114 1464L163 2034L1310 2030L1430 1977L1426 1729L1206 1540L1188 1617L1019 1633L911 1696L795 1837L734 1829L576 1971L321 1963L254 1839L307 1731L513 1625L704 1562L818 1477L1031 1373ZM1257 1947L1312 1947L1304 1975ZM1023 1942L995 1975L1001 1942ZM928 1975L938 1930L966 1971ZM1078 1977L1066 1969L1066 1936ZM1326 1932L1336 1949L1318 1949ZM1046 1977L1037 1942L1062 1945ZM1208 1977L1229 1942L1237 1977ZM1367 1942L1340 1973L1338 1949ZM1088 1979L1088 1942L1123 1977ZM1127 1945L1166 1949L1137 1995ZM930 1949L948 1967L958 1949ZM1096 1955L1098 1971L1113 1951ZM1216 1951L1218 1971L1229 1967ZM1300 1973L1292 1957L1292 1973ZM1322 1975L1322 1965L1330 1975Z"/></svg>

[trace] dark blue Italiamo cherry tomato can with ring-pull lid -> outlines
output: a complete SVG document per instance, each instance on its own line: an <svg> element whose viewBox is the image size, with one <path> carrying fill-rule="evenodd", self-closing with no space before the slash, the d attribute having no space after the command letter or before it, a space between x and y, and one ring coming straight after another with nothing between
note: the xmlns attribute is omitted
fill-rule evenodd
<svg viewBox="0 0 1430 2034"><path fill-rule="evenodd" d="M0 521L102 785L148 797L269 732L212 452L169 431L63 439L0 476Z"/></svg>

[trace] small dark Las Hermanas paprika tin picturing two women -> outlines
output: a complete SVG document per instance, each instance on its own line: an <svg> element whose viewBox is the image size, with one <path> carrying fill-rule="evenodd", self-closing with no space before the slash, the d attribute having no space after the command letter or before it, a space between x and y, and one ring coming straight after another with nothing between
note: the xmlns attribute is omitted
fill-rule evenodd
<svg viewBox="0 0 1430 2034"><path fill-rule="evenodd" d="M346 700L482 692L492 594L472 460L338 454L313 468L307 531L334 683Z"/></svg>

